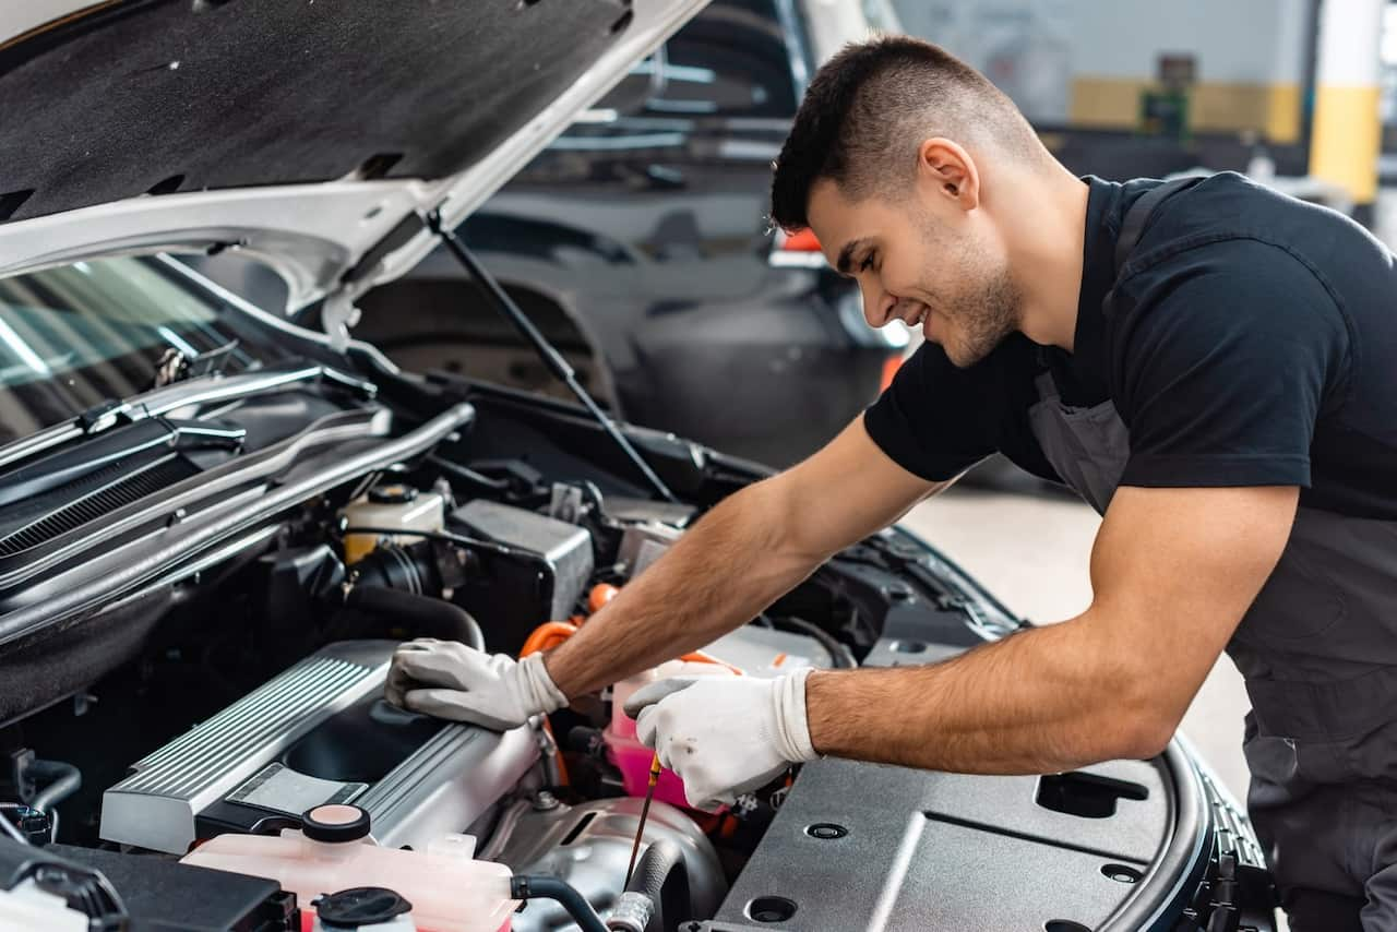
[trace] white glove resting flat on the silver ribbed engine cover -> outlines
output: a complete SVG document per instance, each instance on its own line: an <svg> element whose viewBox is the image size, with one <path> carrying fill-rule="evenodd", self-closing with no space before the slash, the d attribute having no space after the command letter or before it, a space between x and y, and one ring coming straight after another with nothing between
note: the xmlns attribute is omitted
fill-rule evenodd
<svg viewBox="0 0 1397 932"><path fill-rule="evenodd" d="M532 715L567 704L543 668L542 654L515 662L506 654L434 637L398 646L383 696L408 711L492 731L518 728Z"/></svg>

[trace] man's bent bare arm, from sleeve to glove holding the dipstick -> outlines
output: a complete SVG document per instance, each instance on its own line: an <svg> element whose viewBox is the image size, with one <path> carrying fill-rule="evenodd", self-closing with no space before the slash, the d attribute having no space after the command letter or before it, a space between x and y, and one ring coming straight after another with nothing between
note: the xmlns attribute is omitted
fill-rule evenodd
<svg viewBox="0 0 1397 932"><path fill-rule="evenodd" d="M995 774L1160 753L1275 567L1298 495L1119 489L1091 608L932 667L812 673L814 749Z"/></svg>

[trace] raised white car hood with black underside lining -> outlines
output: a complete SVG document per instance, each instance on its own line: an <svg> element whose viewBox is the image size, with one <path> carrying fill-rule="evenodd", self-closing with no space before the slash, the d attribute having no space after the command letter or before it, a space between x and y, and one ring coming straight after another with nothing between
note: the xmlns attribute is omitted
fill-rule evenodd
<svg viewBox="0 0 1397 932"><path fill-rule="evenodd" d="M353 298L705 1L0 4L0 275L239 249Z"/></svg>

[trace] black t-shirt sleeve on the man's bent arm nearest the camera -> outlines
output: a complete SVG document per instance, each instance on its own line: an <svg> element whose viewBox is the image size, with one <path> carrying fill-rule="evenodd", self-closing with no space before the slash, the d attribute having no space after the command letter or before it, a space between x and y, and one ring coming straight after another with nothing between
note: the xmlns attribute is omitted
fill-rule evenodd
<svg viewBox="0 0 1397 932"><path fill-rule="evenodd" d="M1122 485L1310 483L1310 440L1348 354L1343 313L1299 260L1255 240L1119 286L1112 394Z"/></svg>

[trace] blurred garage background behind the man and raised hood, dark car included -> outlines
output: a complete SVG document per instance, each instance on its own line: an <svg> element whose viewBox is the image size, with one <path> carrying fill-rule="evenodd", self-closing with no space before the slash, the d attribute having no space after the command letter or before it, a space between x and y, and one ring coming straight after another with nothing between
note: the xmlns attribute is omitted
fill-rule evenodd
<svg viewBox="0 0 1397 932"><path fill-rule="evenodd" d="M1245 172L1397 242L1394 3L714 0L460 231L613 412L784 467L915 348L900 324L863 323L812 236L766 219L806 82L872 31L979 68L1078 175ZM265 270L204 264L285 305ZM447 257L360 310L355 334L404 366L566 397ZM314 323L319 309L296 313ZM1091 599L1097 516L1007 463L986 461L908 523L1037 622ZM1239 796L1246 706L1224 658L1185 721Z"/></svg>

